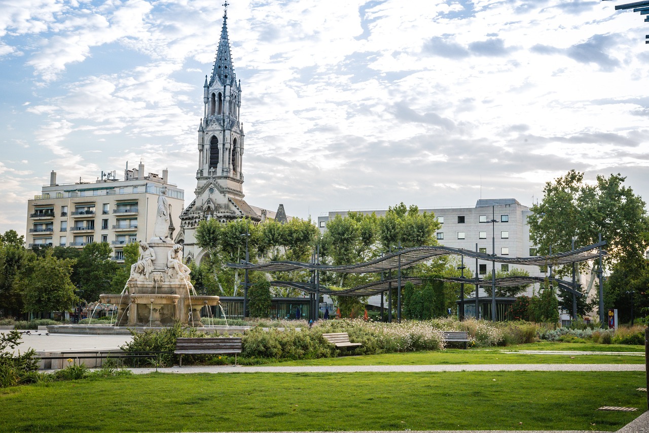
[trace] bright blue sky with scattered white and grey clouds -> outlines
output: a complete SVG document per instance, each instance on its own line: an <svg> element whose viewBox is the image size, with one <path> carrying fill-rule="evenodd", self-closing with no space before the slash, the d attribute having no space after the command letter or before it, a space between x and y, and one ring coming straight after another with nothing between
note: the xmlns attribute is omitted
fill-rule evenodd
<svg viewBox="0 0 649 433"><path fill-rule="evenodd" d="M0 0L0 232L49 183L169 169L193 200L221 1ZM624 0L231 0L243 189L333 210L532 205L570 169L649 199L649 45Z"/></svg>

